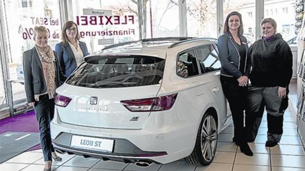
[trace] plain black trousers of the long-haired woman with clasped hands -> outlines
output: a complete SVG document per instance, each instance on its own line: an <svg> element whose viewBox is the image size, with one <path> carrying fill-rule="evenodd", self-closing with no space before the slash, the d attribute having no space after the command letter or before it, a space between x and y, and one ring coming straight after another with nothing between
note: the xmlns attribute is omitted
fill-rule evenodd
<svg viewBox="0 0 305 171"><path fill-rule="evenodd" d="M246 129L244 127L244 110L246 106L247 87L239 86L236 78L220 76L221 86L232 113L234 124L234 139L237 143L245 143Z"/></svg>

